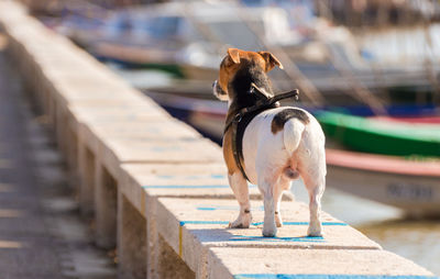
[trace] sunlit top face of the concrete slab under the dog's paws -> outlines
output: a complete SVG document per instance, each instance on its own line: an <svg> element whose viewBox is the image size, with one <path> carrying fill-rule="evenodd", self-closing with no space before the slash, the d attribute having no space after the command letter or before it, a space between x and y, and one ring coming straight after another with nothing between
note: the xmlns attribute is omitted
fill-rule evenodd
<svg viewBox="0 0 440 279"><path fill-rule="evenodd" d="M160 198L157 219L165 226L179 226L195 234L205 245L216 243L228 246L264 246L323 249L380 249L380 245L359 231L326 212L321 214L323 237L307 237L309 221L308 205L301 202L282 202L280 214L284 225L277 237L262 237L263 201L252 201L253 224L248 230L224 230L237 217L239 207L235 200L199 200ZM166 220L172 220L166 224ZM175 223L178 220L178 223ZM166 230L169 232L169 230ZM173 238L170 236L170 238ZM177 241L177 238L175 238ZM178 247L176 245L175 247Z"/></svg>

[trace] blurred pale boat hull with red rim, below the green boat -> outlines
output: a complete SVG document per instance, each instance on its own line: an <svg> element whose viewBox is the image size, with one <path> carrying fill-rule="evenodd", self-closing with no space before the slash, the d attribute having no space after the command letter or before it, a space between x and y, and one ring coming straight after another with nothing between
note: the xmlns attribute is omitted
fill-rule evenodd
<svg viewBox="0 0 440 279"><path fill-rule="evenodd" d="M440 160L326 149L327 185L404 210L411 216L440 215Z"/></svg>

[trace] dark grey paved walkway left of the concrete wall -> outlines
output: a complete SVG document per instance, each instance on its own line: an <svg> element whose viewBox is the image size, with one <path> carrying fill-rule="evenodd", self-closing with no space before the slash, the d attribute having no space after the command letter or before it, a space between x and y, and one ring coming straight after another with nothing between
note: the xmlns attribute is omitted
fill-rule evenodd
<svg viewBox="0 0 440 279"><path fill-rule="evenodd" d="M0 33L1 36L1 33ZM79 217L44 118L0 49L0 278L114 278Z"/></svg>

